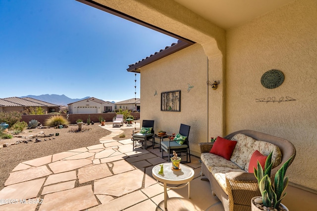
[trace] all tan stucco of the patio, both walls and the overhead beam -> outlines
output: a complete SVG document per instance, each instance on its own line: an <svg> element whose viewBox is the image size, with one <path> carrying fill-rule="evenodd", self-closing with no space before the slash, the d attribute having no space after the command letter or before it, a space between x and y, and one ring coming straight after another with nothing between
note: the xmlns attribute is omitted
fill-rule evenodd
<svg viewBox="0 0 317 211"><path fill-rule="evenodd" d="M317 190L312 173L317 169L316 0L295 0L227 31L175 1L99 2L197 42L141 68L141 119L154 119L156 130L167 132L180 123L191 125L194 154L199 152L197 143L207 141L207 124L210 136L254 129L286 138L297 149L287 171L290 181ZM206 66L208 80L220 81L208 96ZM282 71L285 80L267 89L260 80L271 69ZM194 85L189 92L187 84ZM160 92L178 89L181 112L161 112ZM256 102L287 96L296 100Z"/></svg>

